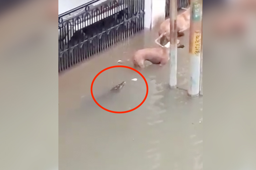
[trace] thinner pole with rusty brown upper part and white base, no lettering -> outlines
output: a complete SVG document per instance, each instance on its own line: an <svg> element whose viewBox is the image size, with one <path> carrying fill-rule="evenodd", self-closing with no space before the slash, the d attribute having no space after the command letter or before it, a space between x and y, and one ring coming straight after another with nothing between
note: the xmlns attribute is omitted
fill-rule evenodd
<svg viewBox="0 0 256 170"><path fill-rule="evenodd" d="M170 0L170 87L177 86L177 0Z"/></svg>

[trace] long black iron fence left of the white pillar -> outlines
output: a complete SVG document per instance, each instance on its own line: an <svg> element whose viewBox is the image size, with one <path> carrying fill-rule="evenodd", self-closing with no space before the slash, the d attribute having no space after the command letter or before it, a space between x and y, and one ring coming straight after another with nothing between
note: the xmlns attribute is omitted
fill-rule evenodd
<svg viewBox="0 0 256 170"><path fill-rule="evenodd" d="M59 15L59 72L144 29L144 0L93 0Z"/></svg>

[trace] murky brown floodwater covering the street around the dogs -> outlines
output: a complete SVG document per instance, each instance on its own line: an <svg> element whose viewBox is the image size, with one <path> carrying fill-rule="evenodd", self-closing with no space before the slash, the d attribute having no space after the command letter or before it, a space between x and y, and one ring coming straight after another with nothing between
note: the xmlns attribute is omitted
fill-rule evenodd
<svg viewBox="0 0 256 170"><path fill-rule="evenodd" d="M185 48L178 49L178 86L187 89L188 32L185 35ZM203 169L203 98L170 90L169 64L139 70L148 83L148 96L135 111L110 113L91 97L98 72L114 65L133 67L132 54L156 47L156 37L156 32L143 31L59 75L59 169ZM110 92L123 81L120 92ZM146 84L133 70L112 68L97 77L93 93L103 107L127 111L143 101Z"/></svg>

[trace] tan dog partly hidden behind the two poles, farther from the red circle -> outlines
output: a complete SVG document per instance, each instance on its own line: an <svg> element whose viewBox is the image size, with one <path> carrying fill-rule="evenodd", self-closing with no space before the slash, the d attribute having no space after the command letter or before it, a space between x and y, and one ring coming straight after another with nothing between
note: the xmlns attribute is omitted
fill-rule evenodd
<svg viewBox="0 0 256 170"><path fill-rule="evenodd" d="M190 7L183 13L177 15L178 37L184 36L184 31L190 27ZM160 25L158 35L165 35L160 39L160 44L170 41L170 18L163 21Z"/></svg>

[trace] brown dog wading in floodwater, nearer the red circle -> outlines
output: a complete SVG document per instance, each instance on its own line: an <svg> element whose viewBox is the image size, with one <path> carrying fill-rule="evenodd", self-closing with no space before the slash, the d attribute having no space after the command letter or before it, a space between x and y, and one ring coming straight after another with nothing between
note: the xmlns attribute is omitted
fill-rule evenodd
<svg viewBox="0 0 256 170"><path fill-rule="evenodd" d="M178 48L184 48L178 40ZM132 61L135 67L145 68L144 62L150 61L153 64L165 65L169 60L170 42L163 47L145 48L134 53Z"/></svg>

